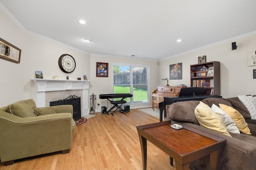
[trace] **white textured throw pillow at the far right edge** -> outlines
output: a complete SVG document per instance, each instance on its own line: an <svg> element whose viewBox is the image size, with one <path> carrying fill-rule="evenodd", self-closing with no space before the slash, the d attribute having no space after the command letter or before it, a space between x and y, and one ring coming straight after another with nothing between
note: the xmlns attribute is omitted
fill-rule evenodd
<svg viewBox="0 0 256 170"><path fill-rule="evenodd" d="M252 119L256 119L256 97L239 95L238 99L244 104L248 109Z"/></svg>

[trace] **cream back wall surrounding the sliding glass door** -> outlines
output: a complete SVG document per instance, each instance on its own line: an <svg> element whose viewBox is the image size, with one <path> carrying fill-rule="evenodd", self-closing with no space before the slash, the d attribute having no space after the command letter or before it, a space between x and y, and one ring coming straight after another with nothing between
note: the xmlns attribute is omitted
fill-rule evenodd
<svg viewBox="0 0 256 170"><path fill-rule="evenodd" d="M108 77L96 77L96 62L108 63ZM157 61L151 60L142 60L142 59L131 59L124 58L120 56L111 56L111 55L100 55L100 54L91 54L90 59L90 80L92 80L90 87L90 95L96 94L97 103L101 104L102 101L99 98L100 94L111 94L113 93L112 89L112 64L113 63L124 63L124 64L142 64L150 66L150 102L151 102L151 92L156 89L158 86L158 81L160 78L158 77L158 69ZM131 106L131 108L142 108L142 107L150 107L148 106ZM100 107L99 107L100 108ZM97 109L97 108L96 108Z"/></svg>

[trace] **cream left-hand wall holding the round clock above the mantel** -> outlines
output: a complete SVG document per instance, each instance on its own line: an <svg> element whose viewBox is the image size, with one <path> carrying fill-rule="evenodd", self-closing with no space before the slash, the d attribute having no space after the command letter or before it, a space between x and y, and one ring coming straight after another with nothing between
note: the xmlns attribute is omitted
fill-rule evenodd
<svg viewBox="0 0 256 170"><path fill-rule="evenodd" d="M72 47L50 41L20 29L10 18L0 11L0 37L20 48L20 63L0 59L0 107L19 100L34 98L35 70L43 72L44 78L58 76L59 79L77 79L88 75L90 79L90 55ZM4 24L3 24L4 23ZM76 60L76 69L66 74L58 67L58 58L70 54Z"/></svg>

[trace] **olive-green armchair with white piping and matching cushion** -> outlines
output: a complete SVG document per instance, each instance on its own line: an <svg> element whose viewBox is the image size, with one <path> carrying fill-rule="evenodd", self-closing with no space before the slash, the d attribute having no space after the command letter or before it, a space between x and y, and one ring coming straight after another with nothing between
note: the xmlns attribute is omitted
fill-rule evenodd
<svg viewBox="0 0 256 170"><path fill-rule="evenodd" d="M72 105L36 108L32 99L0 108L1 162L6 166L20 158L68 153L76 127L72 113Z"/></svg>

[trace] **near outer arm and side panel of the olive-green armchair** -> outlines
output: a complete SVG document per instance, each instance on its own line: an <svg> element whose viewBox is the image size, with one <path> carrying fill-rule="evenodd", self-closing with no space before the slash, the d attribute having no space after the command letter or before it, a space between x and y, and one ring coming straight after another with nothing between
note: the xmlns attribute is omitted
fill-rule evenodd
<svg viewBox="0 0 256 170"><path fill-rule="evenodd" d="M0 125L2 162L68 150L72 145L71 113L22 118L1 112Z"/></svg>

